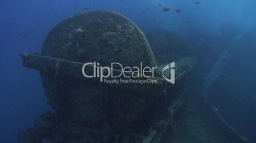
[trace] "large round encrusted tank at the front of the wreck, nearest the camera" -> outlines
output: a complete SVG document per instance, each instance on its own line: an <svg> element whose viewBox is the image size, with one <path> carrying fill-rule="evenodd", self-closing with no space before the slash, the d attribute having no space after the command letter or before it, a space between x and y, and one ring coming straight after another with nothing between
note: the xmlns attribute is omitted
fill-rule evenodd
<svg viewBox="0 0 256 143"><path fill-rule="evenodd" d="M157 66L143 32L129 18L113 11L83 11L71 16L48 34L40 55L21 55L25 66L40 71L53 109L43 115L48 126L42 125L47 121L36 123L34 130L40 130L39 135L34 135L37 141L48 136L54 142L109 142L117 132L129 132L131 123L154 101L150 93L73 76L76 72L71 67L94 61L100 66L113 62L131 67L140 63L143 67ZM63 68L65 62L69 66ZM29 142L26 139L29 137L20 142Z"/></svg>

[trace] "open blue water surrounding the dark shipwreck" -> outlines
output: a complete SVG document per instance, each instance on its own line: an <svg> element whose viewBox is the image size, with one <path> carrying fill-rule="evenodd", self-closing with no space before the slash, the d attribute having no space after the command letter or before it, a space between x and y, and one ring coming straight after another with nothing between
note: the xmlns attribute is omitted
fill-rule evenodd
<svg viewBox="0 0 256 143"><path fill-rule="evenodd" d="M1 0L0 142L17 142L17 131L50 109L38 71L24 68L18 54L40 53L57 23L87 9L117 11L143 32L183 37L204 60L206 84L199 90L231 127L256 142L255 6L255 0Z"/></svg>

